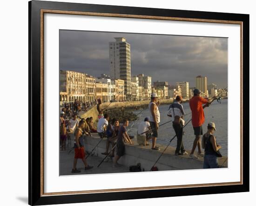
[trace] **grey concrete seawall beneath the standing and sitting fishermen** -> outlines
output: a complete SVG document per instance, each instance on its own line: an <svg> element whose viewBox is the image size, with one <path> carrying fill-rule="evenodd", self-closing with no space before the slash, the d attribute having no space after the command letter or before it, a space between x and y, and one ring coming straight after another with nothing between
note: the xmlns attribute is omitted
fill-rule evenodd
<svg viewBox="0 0 256 206"><path fill-rule="evenodd" d="M94 134L92 137L85 137L85 147L87 151L91 151L97 143L100 141L100 137ZM151 146L140 146L137 145L136 140L133 140L135 145L125 145L125 155L121 157L119 163L124 166L136 165L141 163L141 168L145 171L149 171L154 165L157 158L161 155L162 151L166 147L165 145L160 145L160 151L151 150ZM101 153L105 152L106 140L102 140L101 143L95 148L94 156L101 157L102 159L105 155ZM187 150L187 152L190 152ZM189 155L175 156L175 148L168 147L164 152L158 163L155 165L158 170L181 170L181 169L202 169L203 168L203 157L198 160L191 159ZM223 156L218 158L219 165L222 167L228 167L228 161L225 161L227 157ZM225 161L225 162L224 162ZM224 162L224 164L223 164ZM222 165L223 164L223 165ZM100 167L104 167L104 162Z"/></svg>

